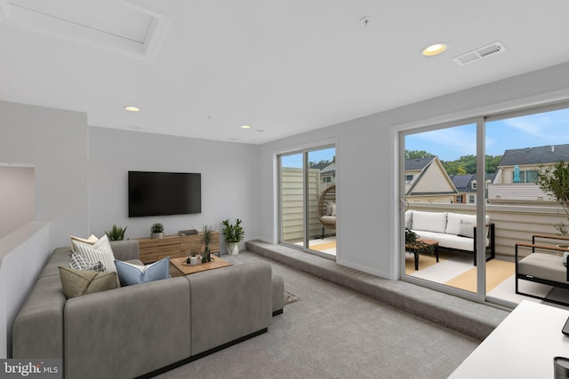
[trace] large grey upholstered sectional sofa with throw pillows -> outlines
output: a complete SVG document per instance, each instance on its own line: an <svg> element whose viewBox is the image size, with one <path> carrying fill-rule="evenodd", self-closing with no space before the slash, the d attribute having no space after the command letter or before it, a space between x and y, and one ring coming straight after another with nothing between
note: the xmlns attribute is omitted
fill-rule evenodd
<svg viewBox="0 0 569 379"><path fill-rule="evenodd" d="M138 241L111 242L137 262ZM265 263L232 265L66 299L55 249L12 328L13 358L61 358L66 378L132 378L218 351L268 330L283 280Z"/></svg>

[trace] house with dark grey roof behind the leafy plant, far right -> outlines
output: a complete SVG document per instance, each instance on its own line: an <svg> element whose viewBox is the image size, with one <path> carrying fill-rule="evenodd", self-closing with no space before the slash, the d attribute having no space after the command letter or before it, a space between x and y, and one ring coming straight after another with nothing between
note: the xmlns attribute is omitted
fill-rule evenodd
<svg viewBox="0 0 569 379"><path fill-rule="evenodd" d="M539 170L559 161L569 161L569 144L506 150L496 177L488 186L488 201L496 203L554 201L537 185Z"/></svg>

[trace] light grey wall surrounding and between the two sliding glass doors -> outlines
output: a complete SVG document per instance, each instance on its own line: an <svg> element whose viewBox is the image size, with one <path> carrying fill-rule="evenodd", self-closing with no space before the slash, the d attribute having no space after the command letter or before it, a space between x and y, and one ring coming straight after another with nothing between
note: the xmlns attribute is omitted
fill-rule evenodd
<svg viewBox="0 0 569 379"><path fill-rule="evenodd" d="M465 75L469 69L476 67ZM267 188L260 193L261 239L277 241L275 155L333 138L337 262L397 279L398 131L559 99L569 99L569 63L265 144L259 157L260 186Z"/></svg>

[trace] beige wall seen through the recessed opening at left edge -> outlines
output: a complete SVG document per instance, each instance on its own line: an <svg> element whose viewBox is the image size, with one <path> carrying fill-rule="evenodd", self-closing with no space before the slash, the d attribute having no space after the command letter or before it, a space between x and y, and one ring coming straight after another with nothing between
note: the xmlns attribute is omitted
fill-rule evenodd
<svg viewBox="0 0 569 379"><path fill-rule="evenodd" d="M34 221L34 168L0 167L0 238Z"/></svg>

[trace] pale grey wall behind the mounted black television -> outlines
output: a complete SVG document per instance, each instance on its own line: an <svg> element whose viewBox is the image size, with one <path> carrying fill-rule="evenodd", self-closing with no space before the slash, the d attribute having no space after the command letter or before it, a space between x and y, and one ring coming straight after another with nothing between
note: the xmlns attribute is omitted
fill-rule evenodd
<svg viewBox="0 0 569 379"><path fill-rule="evenodd" d="M223 219L238 217L244 220L245 240L258 237L258 146L89 130L89 233L100 236L116 224L128 226L126 238L148 238L150 225L156 222L164 225L164 233L175 234L182 229L200 230L204 224L217 225L219 230ZM129 218L129 170L201 173L202 213Z"/></svg>

